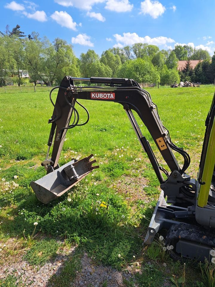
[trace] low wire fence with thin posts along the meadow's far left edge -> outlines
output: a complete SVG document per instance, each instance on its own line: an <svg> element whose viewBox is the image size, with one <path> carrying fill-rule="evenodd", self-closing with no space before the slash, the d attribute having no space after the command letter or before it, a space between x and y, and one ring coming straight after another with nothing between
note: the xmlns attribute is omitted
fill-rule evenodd
<svg viewBox="0 0 215 287"><path fill-rule="evenodd" d="M29 93L29 92L47 92L50 91L52 87L49 86L4 86L0 87L0 94L4 93Z"/></svg>

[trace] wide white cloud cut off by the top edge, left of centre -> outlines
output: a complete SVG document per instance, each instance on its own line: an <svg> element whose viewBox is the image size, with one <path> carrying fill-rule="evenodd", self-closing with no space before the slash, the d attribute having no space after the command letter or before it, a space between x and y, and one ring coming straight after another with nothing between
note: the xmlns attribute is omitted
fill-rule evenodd
<svg viewBox="0 0 215 287"><path fill-rule="evenodd" d="M105 0L54 0L56 3L68 7L73 6L82 10L91 10L92 6Z"/></svg>

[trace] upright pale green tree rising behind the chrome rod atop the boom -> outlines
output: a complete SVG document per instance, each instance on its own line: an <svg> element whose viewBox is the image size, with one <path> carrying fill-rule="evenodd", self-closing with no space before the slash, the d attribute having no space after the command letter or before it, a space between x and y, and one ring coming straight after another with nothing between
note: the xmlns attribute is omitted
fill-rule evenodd
<svg viewBox="0 0 215 287"><path fill-rule="evenodd" d="M99 55L94 50L88 50L86 54L81 53L80 55L80 71L82 77L91 77L92 64L99 61Z"/></svg>

